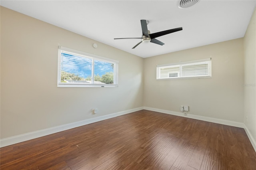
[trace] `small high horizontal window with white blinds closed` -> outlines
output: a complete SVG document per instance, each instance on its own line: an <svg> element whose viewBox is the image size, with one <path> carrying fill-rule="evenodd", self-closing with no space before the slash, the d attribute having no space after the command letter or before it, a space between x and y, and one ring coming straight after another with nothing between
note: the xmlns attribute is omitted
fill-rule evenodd
<svg viewBox="0 0 256 170"><path fill-rule="evenodd" d="M156 79L189 79L210 77L212 77L211 58L157 65L156 67Z"/></svg>

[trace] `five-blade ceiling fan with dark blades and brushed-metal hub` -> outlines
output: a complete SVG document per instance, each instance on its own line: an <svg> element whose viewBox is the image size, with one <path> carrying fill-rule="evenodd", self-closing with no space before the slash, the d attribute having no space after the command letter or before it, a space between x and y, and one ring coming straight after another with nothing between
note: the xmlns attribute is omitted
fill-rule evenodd
<svg viewBox="0 0 256 170"><path fill-rule="evenodd" d="M136 38L136 39L142 39L142 40L141 40L141 42L137 43L134 47L132 47L132 49L137 47L142 42L143 43L152 42L152 43L156 43L156 44L159 44L159 45L164 45L163 42L160 42L159 40L156 40L156 38L160 37L160 36L164 36L166 34L170 34L170 33L182 30L182 27L179 27L179 28L174 28L174 29L171 29L171 30L165 30L165 31L150 34L150 31L148 30L148 26L147 26L148 22L149 21L147 21L147 20L140 20L141 28L142 28L142 37L141 38ZM114 38L114 40L118 40L118 39L134 39L134 38Z"/></svg>

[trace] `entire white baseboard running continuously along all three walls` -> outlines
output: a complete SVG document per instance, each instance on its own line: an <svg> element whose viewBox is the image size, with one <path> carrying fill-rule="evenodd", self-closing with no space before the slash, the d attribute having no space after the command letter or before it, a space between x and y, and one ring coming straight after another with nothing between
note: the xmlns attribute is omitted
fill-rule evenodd
<svg viewBox="0 0 256 170"><path fill-rule="evenodd" d="M198 116L198 115L191 115L191 114L187 114L185 116L184 114L182 114L180 112L168 111L168 110L163 110L163 109L156 109L156 108L151 108L151 107L138 107L138 108L135 108L135 109L121 111L121 112L118 112L118 113L113 113L113 114L104 115L104 116L100 116L100 117L95 117L95 118L91 118L91 119L86 119L86 120L82 120L82 121L78 121L78 122L74 122L74 123L68 123L68 124L65 124L65 125L57 126L57 127L46 128L46 129L43 129L43 130L38 130L38 131L34 131L34 132L29 132L29 133L26 133L26 134L20 134L20 135L12 136L12 137L9 137L9 138L4 138L4 139L0 140L0 147L9 146L9 145L12 145L12 144L24 142L26 140L39 138L39 137L46 136L46 135L49 135L49 134L54 134L54 133L61 132L61 131L64 131L64 130L68 130L68 129L71 129L71 128L76 128L76 127L88 125L90 123L103 121L103 120L110 119L110 118L113 118L113 117L126 115L128 113L140 111L140 110L143 110L143 109L148 110L148 111L166 113L166 114L169 114L169 115L175 115L175 116L180 116L180 117L197 119L197 120L201 120L201 121L219 123L219 124L222 124L222 125L229 125L229 126L233 126L233 127L244 128L250 142L252 143L252 146L253 146L254 150L256 151L256 142L255 142L254 138L252 137L252 134L250 133L248 128L244 125L244 123L228 121L228 120L223 120L223 119L216 119L216 118L211 118L211 117Z"/></svg>

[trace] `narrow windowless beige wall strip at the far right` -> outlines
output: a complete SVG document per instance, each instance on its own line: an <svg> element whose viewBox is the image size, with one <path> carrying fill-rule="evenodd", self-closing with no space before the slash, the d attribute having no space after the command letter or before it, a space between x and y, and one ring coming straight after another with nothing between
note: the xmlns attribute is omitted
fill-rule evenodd
<svg viewBox="0 0 256 170"><path fill-rule="evenodd" d="M256 10L244 36L244 124L256 141ZM248 121L246 120L246 117Z"/></svg>

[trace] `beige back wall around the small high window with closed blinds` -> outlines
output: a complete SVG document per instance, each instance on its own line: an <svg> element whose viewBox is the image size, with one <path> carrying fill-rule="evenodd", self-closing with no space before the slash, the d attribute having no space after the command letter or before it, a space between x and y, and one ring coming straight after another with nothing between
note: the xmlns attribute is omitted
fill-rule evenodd
<svg viewBox="0 0 256 170"><path fill-rule="evenodd" d="M156 65L210 57L211 79L156 80ZM243 59L243 38L146 58L144 106L180 112L188 105L189 114L243 122Z"/></svg>

